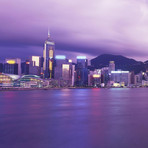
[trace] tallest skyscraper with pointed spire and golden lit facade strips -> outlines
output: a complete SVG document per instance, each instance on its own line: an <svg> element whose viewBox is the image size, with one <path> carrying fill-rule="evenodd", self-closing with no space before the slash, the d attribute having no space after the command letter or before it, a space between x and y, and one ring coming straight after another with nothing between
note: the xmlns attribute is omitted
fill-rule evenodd
<svg viewBox="0 0 148 148"><path fill-rule="evenodd" d="M55 43L51 40L50 33L48 31L48 38L44 43L43 49L43 73L44 78L54 78L54 50Z"/></svg>

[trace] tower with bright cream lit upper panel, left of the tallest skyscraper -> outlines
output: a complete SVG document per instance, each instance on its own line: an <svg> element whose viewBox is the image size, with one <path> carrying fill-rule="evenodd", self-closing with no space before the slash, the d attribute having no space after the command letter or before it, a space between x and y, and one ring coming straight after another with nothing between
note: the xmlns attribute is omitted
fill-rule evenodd
<svg viewBox="0 0 148 148"><path fill-rule="evenodd" d="M29 64L29 74L41 75L41 57L32 56Z"/></svg>

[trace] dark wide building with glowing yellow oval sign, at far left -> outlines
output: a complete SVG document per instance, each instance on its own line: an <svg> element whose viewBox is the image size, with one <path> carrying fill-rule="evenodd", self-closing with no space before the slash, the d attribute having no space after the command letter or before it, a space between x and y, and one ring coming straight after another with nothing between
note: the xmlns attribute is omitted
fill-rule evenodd
<svg viewBox="0 0 148 148"><path fill-rule="evenodd" d="M6 59L4 73L21 75L21 59Z"/></svg>

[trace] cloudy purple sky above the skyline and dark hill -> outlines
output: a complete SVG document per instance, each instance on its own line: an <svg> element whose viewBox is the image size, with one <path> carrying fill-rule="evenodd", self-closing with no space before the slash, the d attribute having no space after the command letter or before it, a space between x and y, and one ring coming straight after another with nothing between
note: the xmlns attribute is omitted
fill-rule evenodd
<svg viewBox="0 0 148 148"><path fill-rule="evenodd" d="M148 60L147 0L0 0L0 58L42 55L48 27L57 54Z"/></svg>

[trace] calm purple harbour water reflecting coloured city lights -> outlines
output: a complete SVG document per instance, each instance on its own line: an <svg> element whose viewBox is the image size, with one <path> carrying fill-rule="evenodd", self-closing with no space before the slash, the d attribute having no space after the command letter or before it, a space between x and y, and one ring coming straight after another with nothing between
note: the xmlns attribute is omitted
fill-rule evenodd
<svg viewBox="0 0 148 148"><path fill-rule="evenodd" d="M148 89L0 92L0 148L148 148Z"/></svg>

